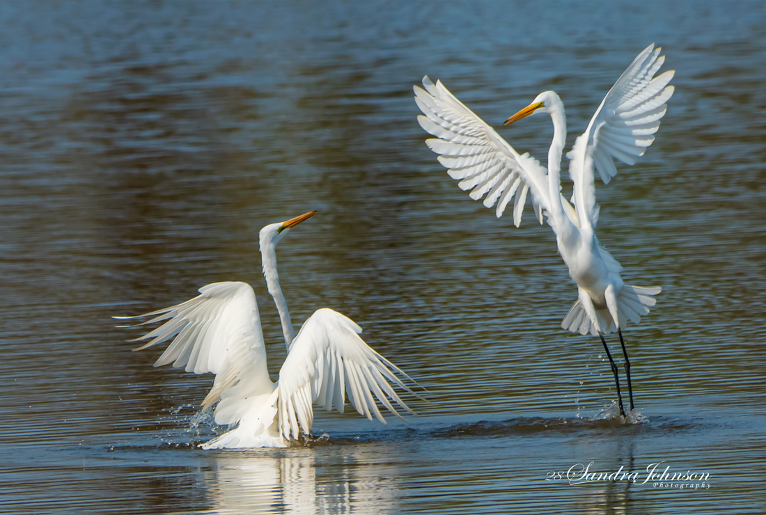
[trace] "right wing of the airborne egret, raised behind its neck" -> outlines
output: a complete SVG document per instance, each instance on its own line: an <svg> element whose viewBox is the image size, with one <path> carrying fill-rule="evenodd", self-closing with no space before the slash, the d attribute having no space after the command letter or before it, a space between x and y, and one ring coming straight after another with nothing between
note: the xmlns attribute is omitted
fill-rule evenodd
<svg viewBox="0 0 766 515"><path fill-rule="evenodd" d="M614 159L634 165L654 141L665 116L666 102L673 96L673 70L654 74L665 62L660 48L650 44L614 83L601 101L588 129L575 141L567 157L575 182L575 208L580 220L596 226L598 210L594 168L607 184L617 174Z"/></svg>

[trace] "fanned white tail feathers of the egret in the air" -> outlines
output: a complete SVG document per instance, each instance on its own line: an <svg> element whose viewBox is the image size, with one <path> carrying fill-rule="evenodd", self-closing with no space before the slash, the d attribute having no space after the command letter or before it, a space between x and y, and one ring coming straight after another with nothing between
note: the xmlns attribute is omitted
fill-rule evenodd
<svg viewBox="0 0 766 515"><path fill-rule="evenodd" d="M662 290L663 288L660 288L660 286L650 286L647 288L623 285L620 288L620 293L617 294L617 317L620 319L620 328L626 328L627 321L629 320L633 324L638 324L641 321L641 317L649 315L649 308L657 302L654 296L662 292ZM617 325L614 324L609 310L596 310L596 316L602 333L617 332ZM567 316L561 321L561 328L573 333L591 333L594 336L597 334L597 328L579 300L572 305Z"/></svg>

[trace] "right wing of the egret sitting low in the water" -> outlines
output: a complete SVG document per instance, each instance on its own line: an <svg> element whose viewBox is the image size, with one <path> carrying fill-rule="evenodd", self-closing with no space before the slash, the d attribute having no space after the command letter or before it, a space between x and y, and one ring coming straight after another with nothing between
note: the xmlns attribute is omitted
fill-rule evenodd
<svg viewBox="0 0 766 515"><path fill-rule="evenodd" d="M311 431L312 404L327 411L333 406L343 412L345 394L360 415L372 415L385 423L375 399L401 419L390 398L402 409L414 413L402 401L390 383L416 395L389 369L410 377L372 350L359 337L359 328L351 319L332 309L319 309L300 328L290 346L290 354L280 370L279 421L285 438L298 438L298 424ZM390 383L389 383L390 382ZM413 381L414 383L414 381Z"/></svg>

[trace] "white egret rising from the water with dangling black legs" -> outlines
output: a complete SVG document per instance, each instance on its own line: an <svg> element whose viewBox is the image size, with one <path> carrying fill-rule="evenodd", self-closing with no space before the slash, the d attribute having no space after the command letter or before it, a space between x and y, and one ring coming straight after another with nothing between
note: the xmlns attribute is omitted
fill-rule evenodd
<svg viewBox="0 0 766 515"><path fill-rule="evenodd" d="M532 194L535 216L542 216L556 235L558 252L569 267L571 279L578 285L578 300L565 316L561 327L572 332L601 337L614 373L620 414L625 410L620 395L617 366L604 340L604 333L617 331L625 357L630 409L633 388L630 384L630 361L622 329L630 320L640 321L655 305L659 286L625 285L620 278L622 266L600 246L595 235L598 220L595 171L604 184L617 174L614 158L633 165L654 141L653 134L665 115L666 102L673 95L668 83L673 71L654 77L664 56L651 44L612 86L596 110L588 129L578 136L568 152L569 174L574 184L572 204L561 195L561 153L567 135L564 105L553 91L540 93L535 100L505 123L546 112L553 121L553 142L548 150L548 169L529 154L519 155L498 133L460 102L446 87L424 77L425 90L414 86L415 102L425 116L417 116L426 132L436 136L427 145L440 154L438 160L470 197L484 197L486 207L495 206L496 216L513 200L513 223L519 227L527 194Z"/></svg>

